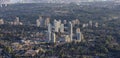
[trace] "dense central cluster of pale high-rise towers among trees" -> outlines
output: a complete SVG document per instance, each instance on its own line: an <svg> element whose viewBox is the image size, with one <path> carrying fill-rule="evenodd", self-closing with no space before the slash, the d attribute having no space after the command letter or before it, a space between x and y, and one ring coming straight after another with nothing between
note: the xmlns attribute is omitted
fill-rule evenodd
<svg viewBox="0 0 120 58"><path fill-rule="evenodd" d="M53 24L48 24L48 38L49 42L81 42L83 39L83 34L80 31L80 28L76 29L76 32L73 32L73 22L67 22L67 25L62 23L61 20L54 20ZM65 29L67 31L65 31ZM62 40L58 40L58 35L63 38Z"/></svg>

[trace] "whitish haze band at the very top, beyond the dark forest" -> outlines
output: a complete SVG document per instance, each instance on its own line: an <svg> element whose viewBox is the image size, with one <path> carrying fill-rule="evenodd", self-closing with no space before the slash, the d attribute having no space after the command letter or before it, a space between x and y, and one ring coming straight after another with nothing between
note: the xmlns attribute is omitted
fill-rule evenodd
<svg viewBox="0 0 120 58"><path fill-rule="evenodd" d="M4 3L80 3L80 2L98 2L98 1L114 1L120 0L0 0L1 4Z"/></svg>

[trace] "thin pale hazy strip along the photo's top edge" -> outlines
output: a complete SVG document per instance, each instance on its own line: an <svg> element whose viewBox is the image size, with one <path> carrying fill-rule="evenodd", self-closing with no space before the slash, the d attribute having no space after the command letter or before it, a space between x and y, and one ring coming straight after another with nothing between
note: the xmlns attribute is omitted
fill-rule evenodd
<svg viewBox="0 0 120 58"><path fill-rule="evenodd" d="M0 0L0 3L2 0ZM36 3L36 2L43 2L43 3L48 3L48 2L52 2L52 3L70 3L70 2L81 2L81 1L114 1L114 0L4 0L5 3L6 1L9 1L9 3Z"/></svg>

